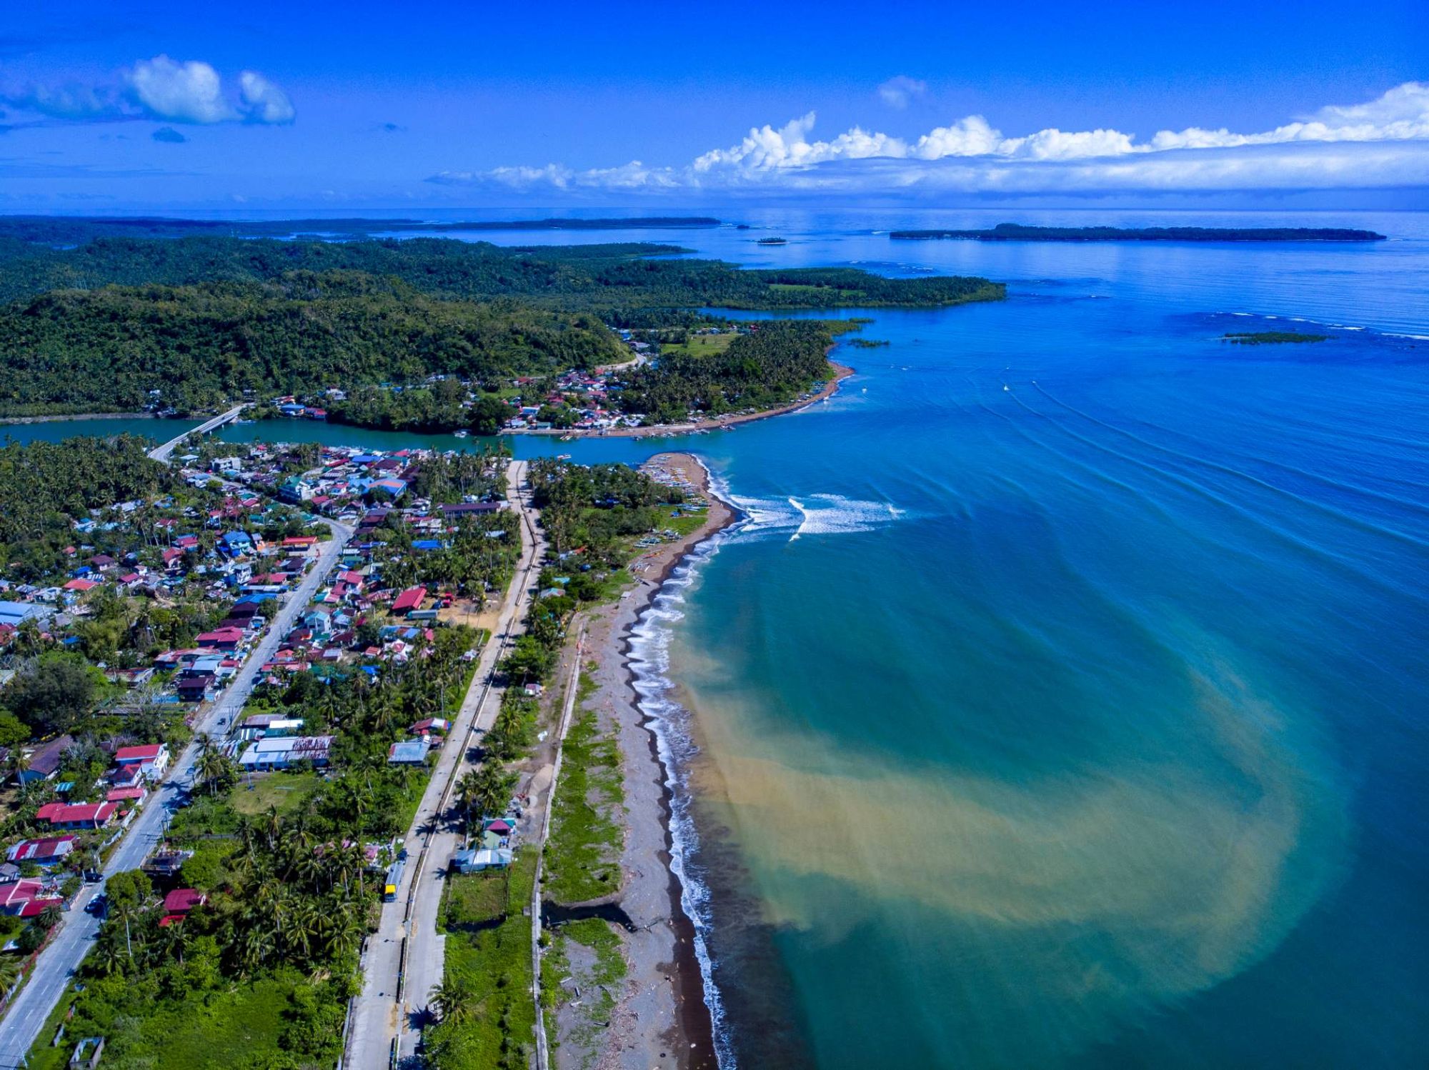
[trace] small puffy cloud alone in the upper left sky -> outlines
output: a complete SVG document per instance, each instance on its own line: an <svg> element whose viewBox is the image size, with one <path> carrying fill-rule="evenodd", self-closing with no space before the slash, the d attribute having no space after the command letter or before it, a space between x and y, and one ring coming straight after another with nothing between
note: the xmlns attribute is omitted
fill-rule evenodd
<svg viewBox="0 0 1429 1070"><path fill-rule="evenodd" d="M262 74L239 74L231 97L211 64L154 56L97 84L29 86L0 91L0 103L53 120L77 123L157 119L167 123L292 123L296 111L287 94Z"/></svg>

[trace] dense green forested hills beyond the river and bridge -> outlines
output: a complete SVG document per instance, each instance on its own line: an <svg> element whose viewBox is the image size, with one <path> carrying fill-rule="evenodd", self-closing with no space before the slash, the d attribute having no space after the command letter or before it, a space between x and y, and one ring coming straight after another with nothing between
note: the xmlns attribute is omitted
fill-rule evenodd
<svg viewBox="0 0 1429 1070"><path fill-rule="evenodd" d="M607 327L690 326L707 321L699 310L709 307L939 307L1005 297L986 279L756 271L653 256L677 251L217 234L61 247L0 231L0 416L189 413L342 387L359 393L339 420L484 430L497 421L492 404L453 421L450 399L437 393L397 406L360 389L416 384L434 373L490 387L517 374L617 363L626 351ZM760 379L759 369L773 377ZM662 410L682 399L719 409L785 394L820 374L803 356L773 359L750 343L722 366L670 361L634 386Z"/></svg>

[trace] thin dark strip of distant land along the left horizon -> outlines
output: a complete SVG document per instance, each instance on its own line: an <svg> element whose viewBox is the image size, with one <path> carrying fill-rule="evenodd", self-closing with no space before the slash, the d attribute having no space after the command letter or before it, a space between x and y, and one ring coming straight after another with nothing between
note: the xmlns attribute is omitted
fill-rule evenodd
<svg viewBox="0 0 1429 1070"><path fill-rule="evenodd" d="M80 243L96 237L289 237L324 234L366 237L393 231L452 233L462 230L693 230L717 227L712 216L632 216L620 219L463 220L437 223L420 219L284 219L216 220L163 216L0 216L0 239L20 241Z"/></svg>

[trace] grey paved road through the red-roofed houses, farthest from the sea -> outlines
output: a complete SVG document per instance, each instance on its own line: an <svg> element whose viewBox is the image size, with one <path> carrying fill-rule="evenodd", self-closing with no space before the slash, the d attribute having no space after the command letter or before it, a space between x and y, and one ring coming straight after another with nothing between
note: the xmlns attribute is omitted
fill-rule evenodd
<svg viewBox="0 0 1429 1070"><path fill-rule="evenodd" d="M233 680L194 724L196 739L197 733L221 736L233 727L234 714L243 709L243 701L253 686L253 677L277 650L279 641L293 627L297 614L313 600L323 579L342 556L343 547L352 539L352 529L334 520L323 523L332 529L333 537L322 544L317 564L289 594L287 603L269 624L259 644L244 659ZM220 724L224 719L227 719L227 724ZM193 776L189 770L197 754L197 743L190 743L169 767L169 776L150 793L149 800L130 821L124 837L110 854L103 870L106 880L123 870L139 869L149 853L163 841L169 821L174 810L179 809L179 801L193 787ZM29 983L10 1004L4 1021L0 1021L0 1069L10 1070L10 1067L23 1064L21 1060L40 1036L44 1020L59 1003L60 996L64 994L64 989L73 980L84 956L89 954L100 923L99 919L86 913L84 907L103 887L103 884L93 884L80 891L73 909L64 916L59 936L40 953Z"/></svg>

